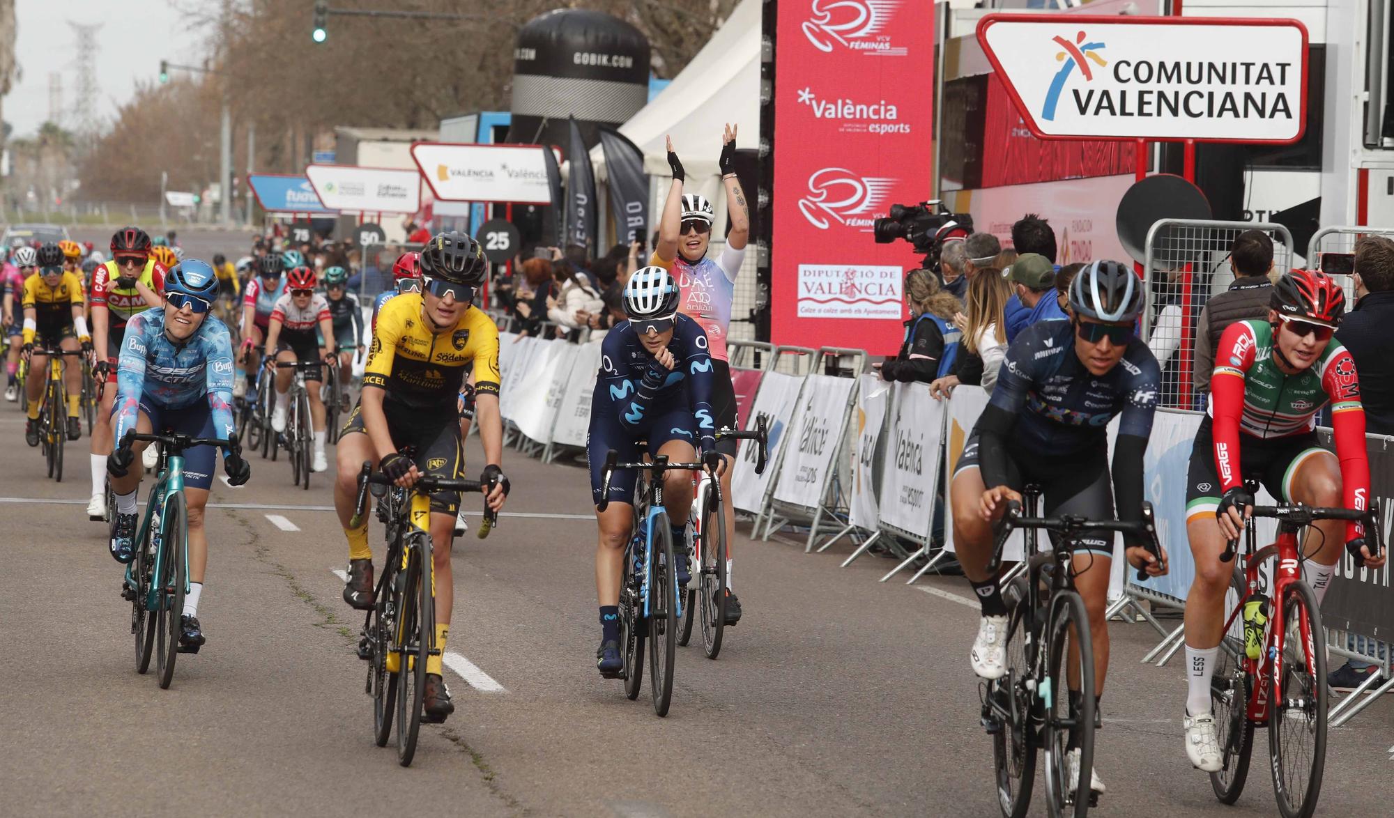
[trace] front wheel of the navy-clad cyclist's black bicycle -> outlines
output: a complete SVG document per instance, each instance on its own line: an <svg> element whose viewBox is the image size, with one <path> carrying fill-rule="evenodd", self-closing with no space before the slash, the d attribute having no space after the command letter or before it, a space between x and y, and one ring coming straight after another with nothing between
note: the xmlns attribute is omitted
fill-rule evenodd
<svg viewBox="0 0 1394 818"><path fill-rule="evenodd" d="M1089 782L1094 768L1094 648L1085 601L1075 591L1064 591L1051 601L1044 648L1047 677L1043 687L1050 691L1041 727L1046 807L1051 818L1083 818L1093 805ZM1071 652L1076 654L1073 659ZM1071 676L1079 680L1076 697L1069 695ZM1076 733L1076 741L1069 741L1071 732ZM1069 780L1066 775L1069 744L1079 748L1076 780Z"/></svg>

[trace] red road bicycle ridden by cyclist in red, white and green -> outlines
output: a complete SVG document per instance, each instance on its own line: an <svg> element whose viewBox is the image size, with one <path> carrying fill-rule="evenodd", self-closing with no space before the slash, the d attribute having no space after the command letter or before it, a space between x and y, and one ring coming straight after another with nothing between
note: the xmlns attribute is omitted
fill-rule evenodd
<svg viewBox="0 0 1394 818"><path fill-rule="evenodd" d="M1257 492L1257 485L1249 485ZM1277 541L1257 548L1255 518L1278 521ZM1224 804L1243 792L1253 751L1253 730L1269 727L1273 793L1284 818L1306 818L1316 810L1326 768L1327 684L1326 631L1316 594L1302 580L1298 531L1319 520L1365 523L1370 555L1383 545L1379 500L1369 510L1298 504L1253 506L1245 525L1245 557L1231 577L1235 605L1225 617L1224 638L1210 679L1210 702L1224 765L1210 773L1210 786ZM1238 552L1230 541L1223 562ZM1363 557L1352 552L1355 564ZM1271 563L1264 571L1266 563ZM1271 573L1273 592L1269 592ZM1274 605L1274 601L1278 603Z"/></svg>

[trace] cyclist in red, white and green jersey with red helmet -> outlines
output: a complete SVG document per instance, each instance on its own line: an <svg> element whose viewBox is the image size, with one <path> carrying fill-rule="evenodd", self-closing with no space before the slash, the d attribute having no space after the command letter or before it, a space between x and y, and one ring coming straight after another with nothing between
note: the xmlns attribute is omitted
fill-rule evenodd
<svg viewBox="0 0 1394 818"><path fill-rule="evenodd" d="M1206 772L1223 765L1210 704L1224 598L1234 563L1220 562L1225 541L1238 539L1255 497L1245 479L1259 479L1274 497L1308 506L1365 509L1370 465L1365 410L1355 358L1333 334L1345 295L1312 270L1284 273L1269 297L1267 321L1230 325L1216 347L1210 404L1196 431L1186 475L1186 537L1196 576L1186 595L1186 757ZM1331 404L1335 453L1322 447L1316 412ZM1302 578L1320 606L1342 546L1379 569L1356 521L1313 524ZM1319 680L1320 683L1320 680Z"/></svg>

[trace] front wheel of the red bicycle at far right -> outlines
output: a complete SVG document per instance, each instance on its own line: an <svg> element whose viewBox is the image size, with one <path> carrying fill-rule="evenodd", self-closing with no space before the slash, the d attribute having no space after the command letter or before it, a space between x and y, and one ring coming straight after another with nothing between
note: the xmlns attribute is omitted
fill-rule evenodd
<svg viewBox="0 0 1394 818"><path fill-rule="evenodd" d="M1310 585L1282 591L1282 669L1269 704L1269 761L1284 818L1308 818L1322 794L1326 768L1326 645L1322 610Z"/></svg>

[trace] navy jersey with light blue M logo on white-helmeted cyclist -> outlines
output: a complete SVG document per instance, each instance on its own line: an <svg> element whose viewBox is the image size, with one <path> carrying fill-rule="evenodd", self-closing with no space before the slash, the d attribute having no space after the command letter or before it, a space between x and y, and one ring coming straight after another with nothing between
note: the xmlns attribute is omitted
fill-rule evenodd
<svg viewBox="0 0 1394 818"><path fill-rule="evenodd" d="M701 450L715 449L717 422L711 408L712 364L707 333L701 325L677 315L673 337L668 341L676 368L669 372L644 348L629 322L605 334L601 346L601 371L595 380L591 415L608 412L626 432L648 431L658 415L655 407L672 407L686 397L686 408L696 421Z"/></svg>

